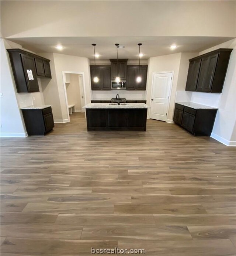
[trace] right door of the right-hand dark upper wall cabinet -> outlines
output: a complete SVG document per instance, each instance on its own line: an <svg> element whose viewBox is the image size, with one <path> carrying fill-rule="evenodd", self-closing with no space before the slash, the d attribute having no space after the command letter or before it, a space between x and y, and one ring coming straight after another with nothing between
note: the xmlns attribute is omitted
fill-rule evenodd
<svg viewBox="0 0 236 256"><path fill-rule="evenodd" d="M197 91L210 92L213 78L215 75L216 64L219 54L206 56L202 58L199 78L197 82Z"/></svg>

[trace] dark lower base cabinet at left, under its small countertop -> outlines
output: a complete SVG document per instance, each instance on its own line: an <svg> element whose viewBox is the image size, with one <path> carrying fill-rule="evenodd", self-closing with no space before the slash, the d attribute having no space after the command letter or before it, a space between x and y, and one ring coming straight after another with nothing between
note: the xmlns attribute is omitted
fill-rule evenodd
<svg viewBox="0 0 236 256"><path fill-rule="evenodd" d="M45 135L54 127L52 108L22 109L25 127L29 136Z"/></svg>

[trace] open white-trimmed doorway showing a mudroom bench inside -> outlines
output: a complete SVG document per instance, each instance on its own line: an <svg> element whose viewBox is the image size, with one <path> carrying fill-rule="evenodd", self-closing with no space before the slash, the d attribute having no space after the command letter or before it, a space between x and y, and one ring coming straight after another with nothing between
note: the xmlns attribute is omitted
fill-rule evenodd
<svg viewBox="0 0 236 256"><path fill-rule="evenodd" d="M63 71L63 82L65 90L67 116L70 122L70 115L75 112L84 113L82 108L86 105L83 72Z"/></svg>

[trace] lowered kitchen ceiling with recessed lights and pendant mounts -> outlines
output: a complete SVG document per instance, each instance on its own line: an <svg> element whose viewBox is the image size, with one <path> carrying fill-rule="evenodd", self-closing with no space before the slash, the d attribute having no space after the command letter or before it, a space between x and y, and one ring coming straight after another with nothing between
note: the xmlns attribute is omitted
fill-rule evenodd
<svg viewBox="0 0 236 256"><path fill-rule="evenodd" d="M233 37L28 37L9 38L8 40L22 45L36 53L58 52L93 59L93 46L95 43L98 59L106 60L116 58L115 43L124 45L124 49L118 49L118 58L138 59L138 43L142 43L142 59L172 54L177 52L199 52L222 42L229 41ZM63 45L63 50L55 48L57 44ZM176 44L175 50L170 45Z"/></svg>

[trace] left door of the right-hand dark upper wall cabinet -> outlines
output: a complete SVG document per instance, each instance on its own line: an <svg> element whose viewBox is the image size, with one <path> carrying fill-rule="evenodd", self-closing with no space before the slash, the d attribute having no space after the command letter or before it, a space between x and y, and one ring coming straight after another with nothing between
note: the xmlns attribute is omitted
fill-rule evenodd
<svg viewBox="0 0 236 256"><path fill-rule="evenodd" d="M189 63L188 76L185 91L196 91L201 59Z"/></svg>

